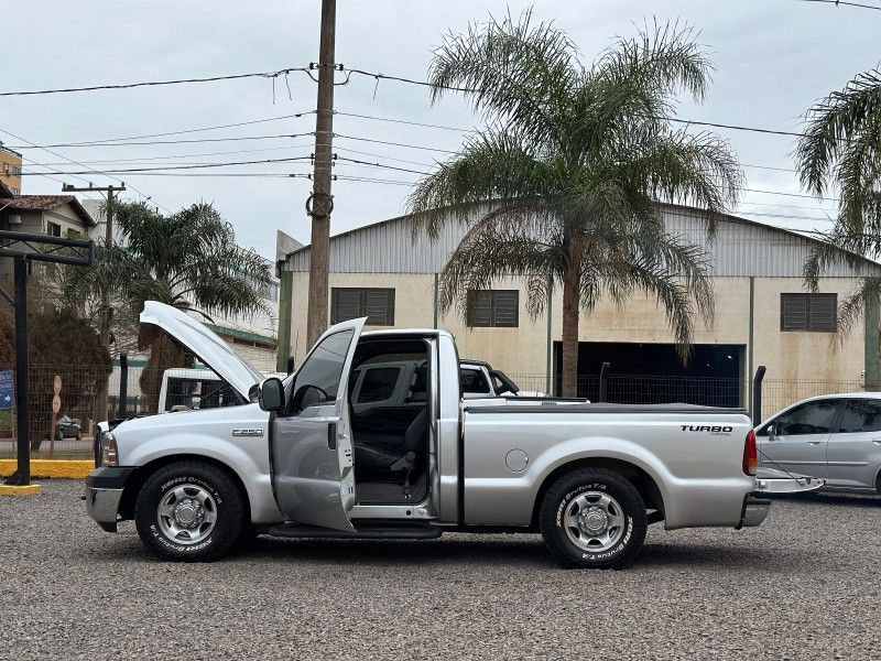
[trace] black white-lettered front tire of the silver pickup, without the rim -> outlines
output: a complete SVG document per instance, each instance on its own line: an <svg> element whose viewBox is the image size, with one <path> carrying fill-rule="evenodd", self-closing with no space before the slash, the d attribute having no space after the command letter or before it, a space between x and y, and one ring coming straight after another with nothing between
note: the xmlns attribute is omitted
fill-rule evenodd
<svg viewBox="0 0 881 661"><path fill-rule="evenodd" d="M174 489L186 486L187 496L203 490L213 500L216 521L209 534L198 542L172 539L163 531L159 505ZM194 496L195 498L195 496ZM233 478L221 468L203 462L181 462L151 475L134 503L134 522L143 544L161 560L208 562L222 557L239 540L246 520L244 503ZM198 531L198 528L196 529ZM186 537L189 533L183 533Z"/></svg>

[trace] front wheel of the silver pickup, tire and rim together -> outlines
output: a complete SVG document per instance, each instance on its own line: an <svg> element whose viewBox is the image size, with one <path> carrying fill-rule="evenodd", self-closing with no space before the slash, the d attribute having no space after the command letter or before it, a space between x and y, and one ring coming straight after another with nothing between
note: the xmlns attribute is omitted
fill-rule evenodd
<svg viewBox="0 0 881 661"><path fill-rule="evenodd" d="M204 562L226 555L246 524L244 503L225 470L181 462L150 476L134 505L144 545L157 557Z"/></svg>

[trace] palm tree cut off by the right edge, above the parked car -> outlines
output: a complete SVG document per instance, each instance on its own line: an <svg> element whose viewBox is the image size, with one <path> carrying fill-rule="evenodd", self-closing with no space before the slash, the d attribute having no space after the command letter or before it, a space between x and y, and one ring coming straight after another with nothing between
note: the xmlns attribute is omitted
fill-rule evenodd
<svg viewBox="0 0 881 661"><path fill-rule="evenodd" d="M805 261L805 283L819 285L824 268L856 256L881 257L881 69L859 74L811 107L798 139L796 170L818 197L838 192L838 215ZM866 278L838 307L838 336L881 296L881 278Z"/></svg>

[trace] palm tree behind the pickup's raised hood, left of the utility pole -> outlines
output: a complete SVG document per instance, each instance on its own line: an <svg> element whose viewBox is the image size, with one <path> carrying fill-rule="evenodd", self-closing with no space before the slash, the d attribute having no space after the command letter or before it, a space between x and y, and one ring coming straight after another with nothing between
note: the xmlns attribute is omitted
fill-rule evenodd
<svg viewBox="0 0 881 661"><path fill-rule="evenodd" d="M119 245L100 246L96 264L67 275L65 293L83 302L104 288L123 310L122 326L138 327L145 301L160 301L211 321L264 307L270 273L263 258L236 245L232 227L206 203L163 216L144 204L115 207ZM155 327L141 327L138 345L150 349L141 390L155 410L163 372L186 365L184 351Z"/></svg>

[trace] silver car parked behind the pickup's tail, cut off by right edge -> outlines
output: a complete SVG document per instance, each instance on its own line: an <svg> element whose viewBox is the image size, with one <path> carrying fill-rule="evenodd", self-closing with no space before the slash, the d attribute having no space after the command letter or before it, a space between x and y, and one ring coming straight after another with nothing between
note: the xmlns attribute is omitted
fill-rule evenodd
<svg viewBox="0 0 881 661"><path fill-rule="evenodd" d="M824 489L881 492L881 392L802 400L755 427L760 465L826 480Z"/></svg>

